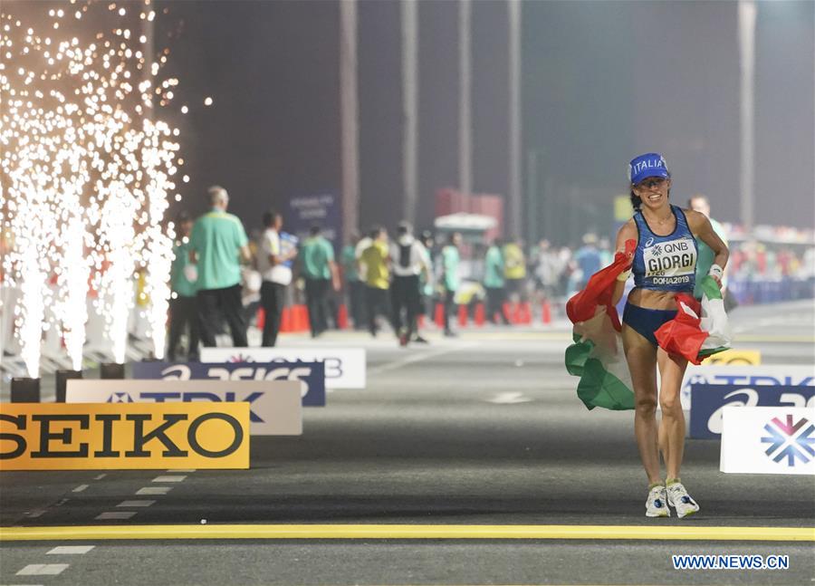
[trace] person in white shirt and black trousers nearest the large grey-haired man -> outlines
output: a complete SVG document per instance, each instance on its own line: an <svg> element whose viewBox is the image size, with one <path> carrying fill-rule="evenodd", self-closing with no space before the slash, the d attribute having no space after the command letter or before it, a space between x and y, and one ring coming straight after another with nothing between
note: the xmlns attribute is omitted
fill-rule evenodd
<svg viewBox="0 0 815 586"><path fill-rule="evenodd" d="M261 307L264 308L263 346L274 346L280 331L280 320L286 301L286 287L292 283L292 269L286 264L297 252L283 253L280 245L280 229L283 216L274 210L264 214L264 234L258 245L257 269L263 277L261 284Z"/></svg>

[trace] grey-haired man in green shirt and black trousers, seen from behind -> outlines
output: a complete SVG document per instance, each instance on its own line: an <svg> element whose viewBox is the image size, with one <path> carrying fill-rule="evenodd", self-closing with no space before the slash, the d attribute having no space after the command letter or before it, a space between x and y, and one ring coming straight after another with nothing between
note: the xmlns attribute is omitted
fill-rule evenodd
<svg viewBox="0 0 815 586"><path fill-rule="evenodd" d="M197 264L198 327L205 346L216 345L220 316L229 325L236 348L248 346L241 301L241 260L249 262L249 239L237 216L226 213L224 187L207 189L211 209L196 220L189 237L189 259Z"/></svg>

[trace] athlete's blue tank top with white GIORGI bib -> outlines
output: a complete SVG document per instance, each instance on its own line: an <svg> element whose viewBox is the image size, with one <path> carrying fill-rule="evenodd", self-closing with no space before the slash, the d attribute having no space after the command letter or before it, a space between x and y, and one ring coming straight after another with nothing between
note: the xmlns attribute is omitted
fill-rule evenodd
<svg viewBox="0 0 815 586"><path fill-rule="evenodd" d="M638 243L634 254L634 286L654 291L693 293L696 273L696 239L682 208L671 206L676 228L666 236L651 232L642 212L634 214Z"/></svg>

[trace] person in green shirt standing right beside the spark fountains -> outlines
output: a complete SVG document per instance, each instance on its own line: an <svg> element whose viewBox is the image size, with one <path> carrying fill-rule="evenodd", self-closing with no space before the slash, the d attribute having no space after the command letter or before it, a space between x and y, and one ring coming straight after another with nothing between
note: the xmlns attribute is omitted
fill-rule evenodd
<svg viewBox="0 0 815 586"><path fill-rule="evenodd" d="M173 245L173 264L170 266L170 325L167 358L176 361L178 341L184 331L189 332L187 360L198 356L198 316L196 309L196 269L189 263L189 233L192 218L187 212L176 216L176 243ZM189 277L194 277L190 279Z"/></svg>

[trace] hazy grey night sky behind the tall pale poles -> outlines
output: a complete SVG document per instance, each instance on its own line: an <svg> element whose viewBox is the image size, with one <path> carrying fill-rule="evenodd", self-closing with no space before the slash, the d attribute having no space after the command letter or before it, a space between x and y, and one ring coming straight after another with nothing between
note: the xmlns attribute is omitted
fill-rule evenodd
<svg viewBox="0 0 815 586"><path fill-rule="evenodd" d="M211 108L180 117L184 207L207 185L232 195L247 227L289 197L340 193L339 5L159 2L182 95ZM360 224L401 210L401 41L396 1L359 10ZM177 24L181 24L180 29ZM576 242L610 229L628 160L666 155L672 198L700 191L739 221L736 2L524 2L523 198L526 236ZM419 29L419 207L458 178L455 2L423 1ZM759 2L755 69L756 224L815 225L815 3ZM180 35L178 35L180 31ZM509 188L507 15L473 3L474 191ZM180 102L179 102L180 103ZM528 189L536 153L538 190Z"/></svg>

